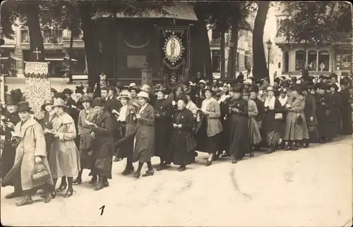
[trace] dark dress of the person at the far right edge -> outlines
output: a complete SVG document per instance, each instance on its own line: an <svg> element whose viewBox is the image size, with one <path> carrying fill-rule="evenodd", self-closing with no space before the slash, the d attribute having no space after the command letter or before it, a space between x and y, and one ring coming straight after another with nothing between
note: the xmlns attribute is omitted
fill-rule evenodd
<svg viewBox="0 0 353 227"><path fill-rule="evenodd" d="M342 134L352 134L352 106L348 89L342 90Z"/></svg>

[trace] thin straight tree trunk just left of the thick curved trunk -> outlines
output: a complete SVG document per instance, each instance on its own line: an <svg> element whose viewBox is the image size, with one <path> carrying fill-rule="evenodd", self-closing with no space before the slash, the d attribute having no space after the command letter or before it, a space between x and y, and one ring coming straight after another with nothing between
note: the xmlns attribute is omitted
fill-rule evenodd
<svg viewBox="0 0 353 227"><path fill-rule="evenodd" d="M237 3L239 4L239 2ZM229 56L228 56L228 78L229 79L235 79L236 78L236 68L237 68L237 49L238 49L238 39L239 39L239 8L232 14L232 20L231 20L231 35L230 35L230 40L234 41L234 47L232 50L232 47L229 45ZM234 56L232 56L234 55ZM233 70L232 70L233 67Z"/></svg>

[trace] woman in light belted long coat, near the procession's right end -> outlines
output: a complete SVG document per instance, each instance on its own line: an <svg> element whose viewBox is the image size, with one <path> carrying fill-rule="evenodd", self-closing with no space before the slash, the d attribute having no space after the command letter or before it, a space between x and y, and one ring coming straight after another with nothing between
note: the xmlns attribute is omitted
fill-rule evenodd
<svg viewBox="0 0 353 227"><path fill-rule="evenodd" d="M292 95L287 100L287 116L284 140L288 141L285 150L296 151L302 140L309 139L308 128L304 114L305 98L298 93L299 87L290 87Z"/></svg>

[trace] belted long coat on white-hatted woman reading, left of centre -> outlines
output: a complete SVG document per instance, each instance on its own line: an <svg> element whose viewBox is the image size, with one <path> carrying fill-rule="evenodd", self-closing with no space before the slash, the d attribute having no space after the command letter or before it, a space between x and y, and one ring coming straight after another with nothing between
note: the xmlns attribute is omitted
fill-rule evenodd
<svg viewBox="0 0 353 227"><path fill-rule="evenodd" d="M138 128L134 141L133 162L150 161L155 150L155 109L147 104L140 113L141 108L137 111L140 118L137 119Z"/></svg>

